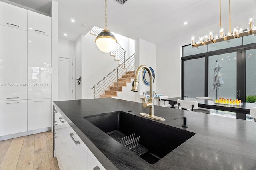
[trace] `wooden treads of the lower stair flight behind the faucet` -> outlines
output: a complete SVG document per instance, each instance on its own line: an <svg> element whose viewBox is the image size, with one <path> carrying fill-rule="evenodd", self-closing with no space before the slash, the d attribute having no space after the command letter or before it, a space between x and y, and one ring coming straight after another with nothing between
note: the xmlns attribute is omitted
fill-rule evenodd
<svg viewBox="0 0 256 170"><path fill-rule="evenodd" d="M127 87L127 83L131 83L131 79L134 79L135 71L127 71L122 78L118 79L118 82L114 82L114 85L109 86L109 90L105 90L105 94L100 95L100 98L117 97L117 92L122 92L123 87Z"/></svg>

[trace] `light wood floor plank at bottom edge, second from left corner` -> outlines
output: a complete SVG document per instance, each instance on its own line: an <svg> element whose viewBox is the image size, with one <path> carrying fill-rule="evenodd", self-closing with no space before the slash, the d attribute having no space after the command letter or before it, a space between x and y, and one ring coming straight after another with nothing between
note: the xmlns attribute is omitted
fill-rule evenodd
<svg viewBox="0 0 256 170"><path fill-rule="evenodd" d="M33 170L34 146L21 149L16 170Z"/></svg>

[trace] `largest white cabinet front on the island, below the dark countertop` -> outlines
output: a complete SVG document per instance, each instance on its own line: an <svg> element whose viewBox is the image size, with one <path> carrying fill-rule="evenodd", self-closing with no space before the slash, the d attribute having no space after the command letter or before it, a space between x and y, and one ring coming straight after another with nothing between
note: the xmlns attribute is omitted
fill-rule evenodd
<svg viewBox="0 0 256 170"><path fill-rule="evenodd" d="M82 142L74 130L69 126L56 129L58 138L56 150L58 152L58 162L63 169L84 170L87 167L87 146ZM71 135L70 135L71 134ZM75 143L79 141L78 143Z"/></svg>

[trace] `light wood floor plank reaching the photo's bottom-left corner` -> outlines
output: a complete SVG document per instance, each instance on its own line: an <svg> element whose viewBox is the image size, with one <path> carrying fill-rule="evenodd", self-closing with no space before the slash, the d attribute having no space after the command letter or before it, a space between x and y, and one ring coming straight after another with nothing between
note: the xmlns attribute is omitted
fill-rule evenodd
<svg viewBox="0 0 256 170"><path fill-rule="evenodd" d="M6 155L4 156L4 159L0 165L0 170L15 170L23 141L24 136L12 139L10 147L8 148Z"/></svg>

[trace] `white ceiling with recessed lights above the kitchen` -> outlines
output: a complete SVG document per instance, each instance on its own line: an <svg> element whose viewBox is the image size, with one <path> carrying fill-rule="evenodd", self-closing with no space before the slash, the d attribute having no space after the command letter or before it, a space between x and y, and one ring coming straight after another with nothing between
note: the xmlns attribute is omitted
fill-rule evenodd
<svg viewBox="0 0 256 170"><path fill-rule="evenodd" d="M51 0L10 1L50 14ZM59 4L59 38L76 41L93 26L105 27L104 0L56 2ZM192 35L209 26L213 26L215 33L218 32L219 7L219 0L128 0L123 5L116 0L108 0L107 28L134 40L141 38L158 44L182 34ZM239 25L245 29L247 20L252 15L256 20L256 0L231 0L231 28ZM71 22L71 19L75 22ZM187 25L183 24L185 21L188 22ZM228 0L221 1L221 22L228 30ZM205 33L208 30L202 32L202 35Z"/></svg>

